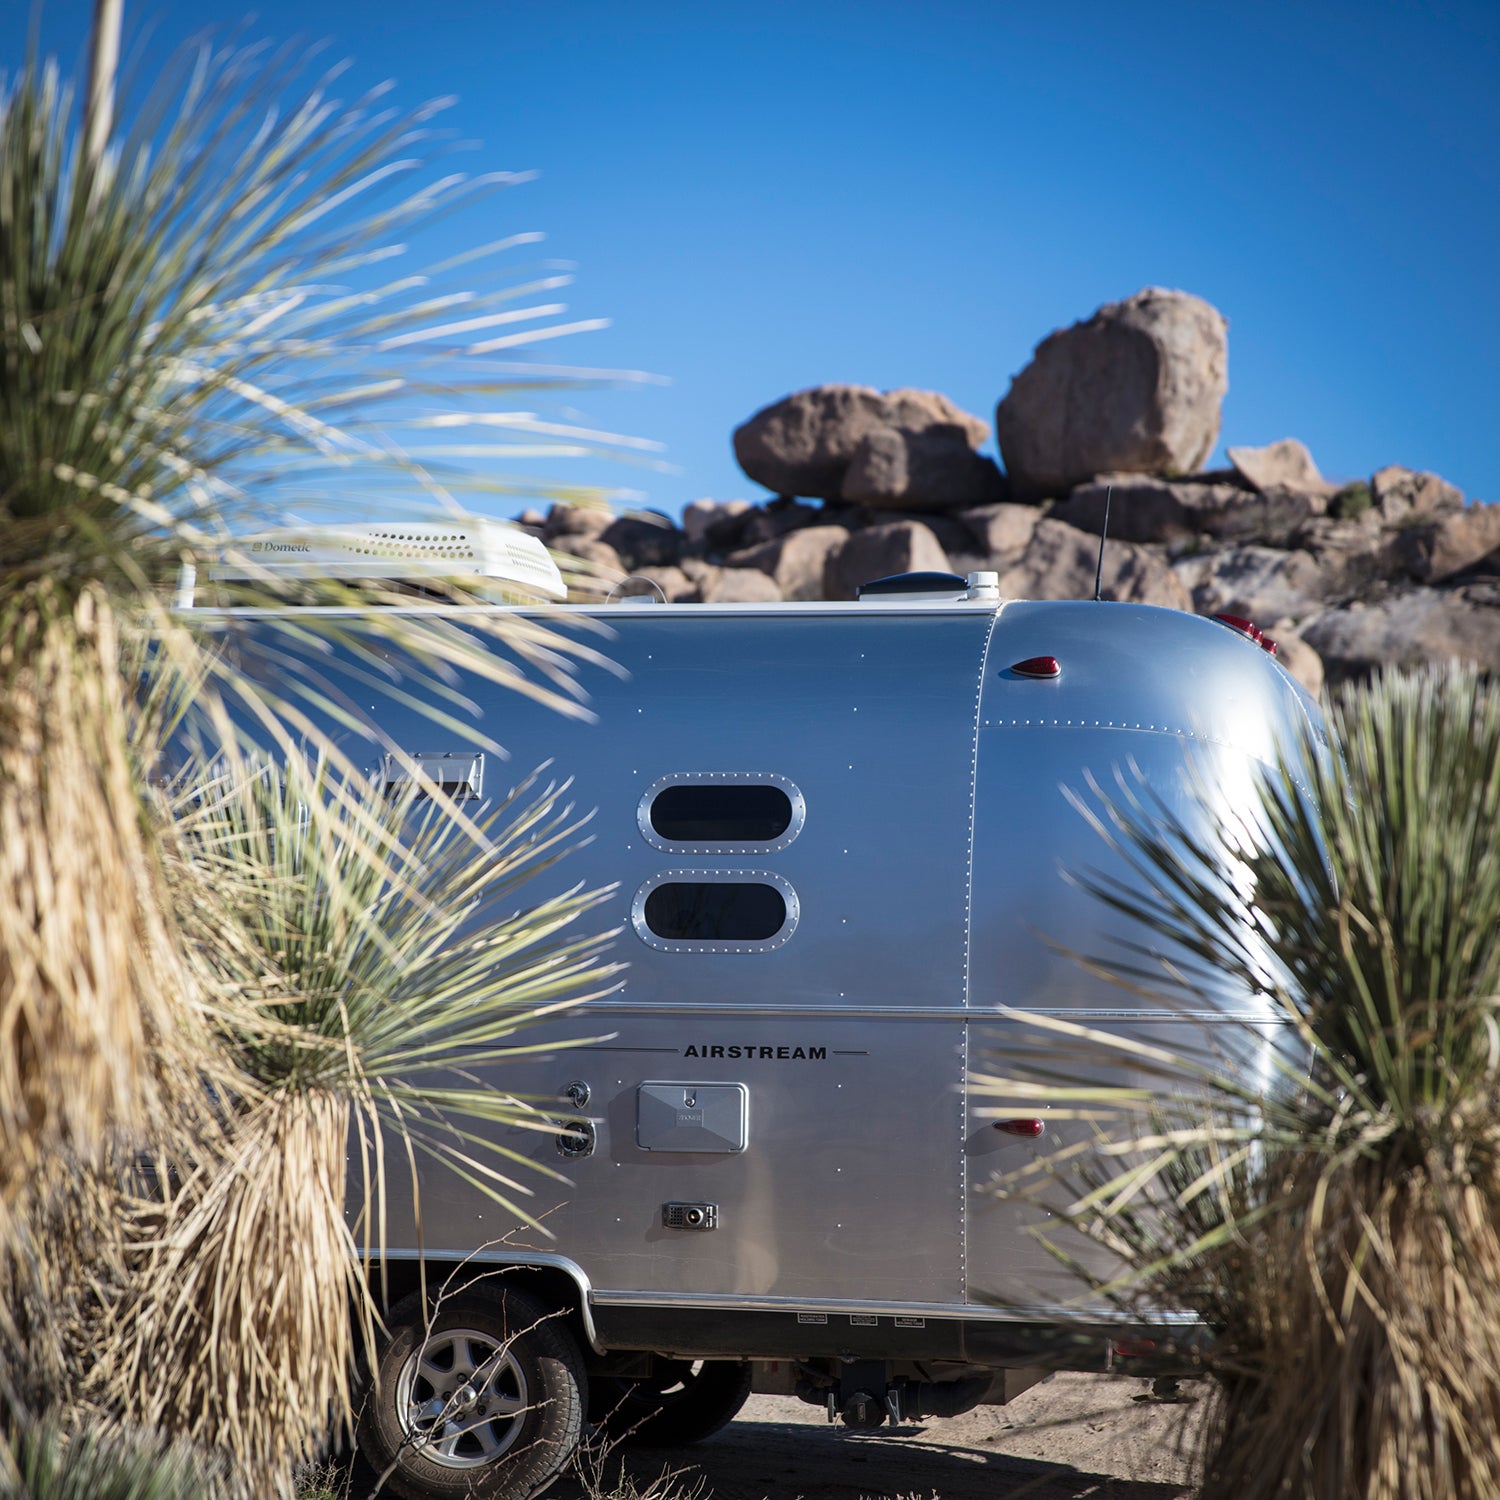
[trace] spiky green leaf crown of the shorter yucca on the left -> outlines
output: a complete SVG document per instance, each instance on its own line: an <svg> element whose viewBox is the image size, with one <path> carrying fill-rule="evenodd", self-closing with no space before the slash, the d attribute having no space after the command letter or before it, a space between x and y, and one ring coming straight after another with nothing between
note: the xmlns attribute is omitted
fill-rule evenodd
<svg viewBox="0 0 1500 1500"><path fill-rule="evenodd" d="M561 795L532 777L470 822L416 783L351 794L327 762L180 783L174 885L202 914L236 1092L338 1095L525 1218L495 1126L550 1125L486 1074L616 968L609 934L572 936L608 892L525 892L576 836Z"/></svg>

